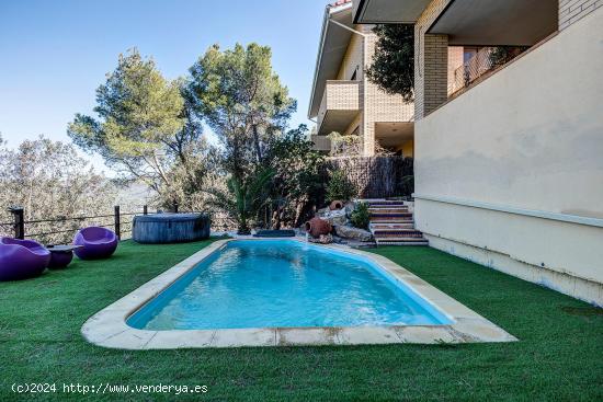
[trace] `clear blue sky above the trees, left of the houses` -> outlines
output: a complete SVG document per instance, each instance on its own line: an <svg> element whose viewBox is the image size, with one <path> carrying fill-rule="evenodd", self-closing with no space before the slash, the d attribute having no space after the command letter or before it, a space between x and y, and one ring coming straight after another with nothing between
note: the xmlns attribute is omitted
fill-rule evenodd
<svg viewBox="0 0 603 402"><path fill-rule="evenodd" d="M94 91L137 47L170 79L213 44L268 45L298 110L307 108L328 0L0 0L0 134L15 148L44 135L69 141L76 113L92 114ZM87 157L111 174L99 157Z"/></svg>

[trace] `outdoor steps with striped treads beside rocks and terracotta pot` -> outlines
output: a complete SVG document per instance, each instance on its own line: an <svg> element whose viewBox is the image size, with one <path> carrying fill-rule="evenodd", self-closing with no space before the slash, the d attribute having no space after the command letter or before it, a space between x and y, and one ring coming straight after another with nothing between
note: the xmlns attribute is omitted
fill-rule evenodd
<svg viewBox="0 0 603 402"><path fill-rule="evenodd" d="M401 200L365 199L371 213L368 229L377 245L428 245L423 233L414 229L414 219Z"/></svg>

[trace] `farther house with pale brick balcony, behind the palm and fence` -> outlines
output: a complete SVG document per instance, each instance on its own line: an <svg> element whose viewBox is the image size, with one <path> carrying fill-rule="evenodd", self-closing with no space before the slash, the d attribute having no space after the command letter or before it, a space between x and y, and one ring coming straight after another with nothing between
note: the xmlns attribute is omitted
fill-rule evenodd
<svg viewBox="0 0 603 402"><path fill-rule="evenodd" d="M328 136L334 131L356 136L364 156L374 154L377 142L412 157L414 106L366 78L377 37L372 25L353 24L352 11L351 0L340 0L325 11L308 110L308 117L317 123L311 137L315 147L330 150Z"/></svg>

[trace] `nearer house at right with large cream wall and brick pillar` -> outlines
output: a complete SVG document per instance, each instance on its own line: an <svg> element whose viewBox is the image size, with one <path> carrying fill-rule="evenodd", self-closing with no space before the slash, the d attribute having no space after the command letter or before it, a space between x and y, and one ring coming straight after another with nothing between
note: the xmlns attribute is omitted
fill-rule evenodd
<svg viewBox="0 0 603 402"><path fill-rule="evenodd" d="M414 24L414 219L430 245L599 306L602 5L353 2L355 24ZM516 57L480 61L501 46Z"/></svg>

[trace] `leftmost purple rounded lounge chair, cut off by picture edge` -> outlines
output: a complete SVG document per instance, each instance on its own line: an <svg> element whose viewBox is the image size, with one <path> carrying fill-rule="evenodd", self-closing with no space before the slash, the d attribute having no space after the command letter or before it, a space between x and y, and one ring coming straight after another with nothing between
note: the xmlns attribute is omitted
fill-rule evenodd
<svg viewBox="0 0 603 402"><path fill-rule="evenodd" d="M41 275L50 262L50 252L33 240L0 239L0 282Z"/></svg>

